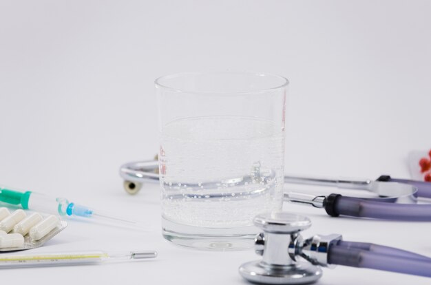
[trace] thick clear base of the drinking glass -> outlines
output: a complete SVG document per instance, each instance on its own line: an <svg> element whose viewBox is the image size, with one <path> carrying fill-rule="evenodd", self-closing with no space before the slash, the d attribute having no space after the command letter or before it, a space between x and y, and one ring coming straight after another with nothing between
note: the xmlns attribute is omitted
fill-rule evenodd
<svg viewBox="0 0 431 285"><path fill-rule="evenodd" d="M169 242L204 251L241 251L254 246L255 226L208 228L172 222L162 217L162 235Z"/></svg>

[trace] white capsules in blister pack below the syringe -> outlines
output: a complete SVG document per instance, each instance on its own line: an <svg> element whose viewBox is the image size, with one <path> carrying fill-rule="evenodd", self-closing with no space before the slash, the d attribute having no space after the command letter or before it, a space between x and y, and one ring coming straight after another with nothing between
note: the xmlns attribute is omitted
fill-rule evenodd
<svg viewBox="0 0 431 285"><path fill-rule="evenodd" d="M7 208L0 208L0 249L23 248L26 236L30 242L36 242L58 226L61 221L56 215L43 218L40 213L27 215L23 210L10 213Z"/></svg>

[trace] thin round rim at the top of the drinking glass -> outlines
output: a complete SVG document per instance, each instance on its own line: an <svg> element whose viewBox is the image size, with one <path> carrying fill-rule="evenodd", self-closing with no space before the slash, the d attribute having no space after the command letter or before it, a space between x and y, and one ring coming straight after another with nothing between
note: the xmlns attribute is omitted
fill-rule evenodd
<svg viewBox="0 0 431 285"><path fill-rule="evenodd" d="M178 77L178 76L200 75L200 74L246 74L246 75L253 75L253 76L266 76L266 77L272 77L272 78L281 79L282 80L282 84L275 85L275 87L255 89L255 90L252 90L252 91L237 91L237 92L220 92L220 91L214 91L214 92L209 92L209 91L196 91L196 90L178 89L178 88L169 87L167 85L164 85L164 84L160 83L160 81L162 81L163 79L170 79L170 78L175 78L175 77ZM258 93L271 92L273 90L281 89L281 88L286 87L289 84L289 81L284 76L270 74L270 73L263 73L263 72L233 72L233 71L224 71L223 72L223 71L218 71L218 72L178 72L178 73L174 73L174 74L168 74L168 75L164 75L164 76L160 76L160 77L156 78L156 80L154 81L154 84L156 85L156 88L167 89L167 90L169 90L171 92L176 92L176 93L239 95L239 94L258 94Z"/></svg>

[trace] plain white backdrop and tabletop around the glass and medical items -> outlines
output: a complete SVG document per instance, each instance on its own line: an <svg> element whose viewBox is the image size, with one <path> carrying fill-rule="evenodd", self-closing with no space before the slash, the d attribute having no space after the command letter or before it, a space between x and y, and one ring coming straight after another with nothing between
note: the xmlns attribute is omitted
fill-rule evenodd
<svg viewBox="0 0 431 285"><path fill-rule="evenodd" d="M159 252L143 263L5 270L1 280L244 284L238 266L257 259L252 250L168 244L157 186L137 196L122 189L118 167L158 150L154 78L209 70L286 76L286 172L408 178L408 151L431 147L430 14L430 1L0 0L0 182L147 225L132 231L71 221L37 251ZM428 223L285 209L312 218L305 235L343 233L431 256ZM430 279L338 266L319 284L365 282Z"/></svg>

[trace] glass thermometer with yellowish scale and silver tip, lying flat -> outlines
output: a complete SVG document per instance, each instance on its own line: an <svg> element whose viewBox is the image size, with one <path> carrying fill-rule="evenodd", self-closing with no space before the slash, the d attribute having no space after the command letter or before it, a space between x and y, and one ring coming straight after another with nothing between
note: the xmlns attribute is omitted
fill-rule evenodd
<svg viewBox="0 0 431 285"><path fill-rule="evenodd" d="M129 251L123 253L83 251L39 253L33 255L0 255L0 268L97 264L102 262L142 260L156 256L156 251Z"/></svg>

